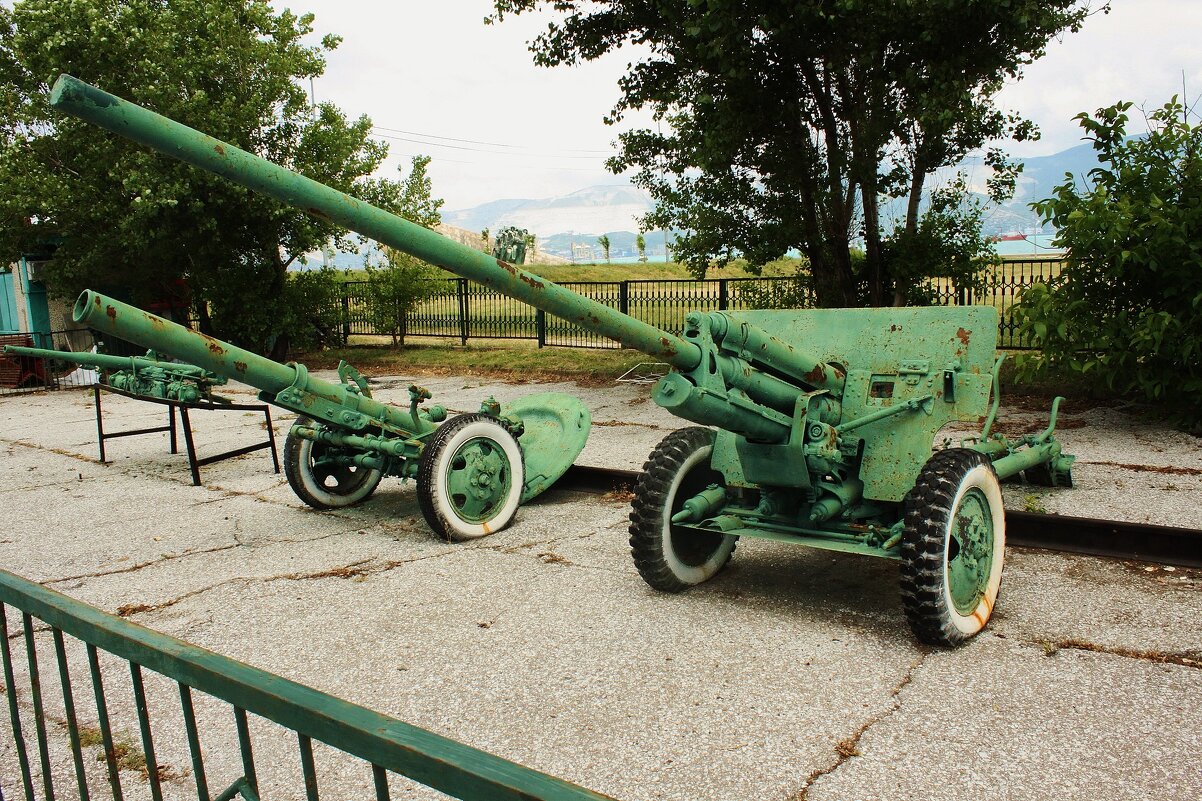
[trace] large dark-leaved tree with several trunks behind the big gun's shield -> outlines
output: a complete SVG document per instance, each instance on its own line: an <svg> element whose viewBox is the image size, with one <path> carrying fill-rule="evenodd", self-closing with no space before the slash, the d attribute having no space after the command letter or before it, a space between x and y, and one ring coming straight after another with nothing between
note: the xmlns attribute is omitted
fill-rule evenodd
<svg viewBox="0 0 1202 801"><path fill-rule="evenodd" d="M667 125L623 134L609 167L636 171L656 201L645 225L682 231L674 250L695 274L796 248L819 302L853 305L861 232L867 299L909 295L888 273L881 198L906 198L916 229L932 172L989 140L1035 136L994 97L1053 36L1079 28L1090 5L495 0L488 22L535 10L563 14L530 43L537 64L643 46L607 121L649 109ZM996 152L989 161L1001 189L1017 167Z"/></svg>

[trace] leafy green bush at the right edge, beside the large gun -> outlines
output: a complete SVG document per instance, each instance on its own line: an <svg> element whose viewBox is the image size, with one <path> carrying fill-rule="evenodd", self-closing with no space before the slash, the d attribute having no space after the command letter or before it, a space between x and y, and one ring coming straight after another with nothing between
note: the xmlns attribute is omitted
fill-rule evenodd
<svg viewBox="0 0 1202 801"><path fill-rule="evenodd" d="M1202 428L1202 125L1173 99L1127 136L1121 102L1078 114L1097 166L1034 203L1067 248L1064 271L1023 293L1024 364L1167 405Z"/></svg>

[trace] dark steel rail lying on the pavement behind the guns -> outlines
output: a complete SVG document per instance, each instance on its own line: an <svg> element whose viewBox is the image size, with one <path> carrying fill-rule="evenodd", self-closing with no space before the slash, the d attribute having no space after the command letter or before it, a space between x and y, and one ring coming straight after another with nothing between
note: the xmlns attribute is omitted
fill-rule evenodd
<svg viewBox="0 0 1202 801"><path fill-rule="evenodd" d="M637 470L573 465L559 491L631 491ZM1202 569L1202 530L1093 517L1006 510L1006 544L1016 547Z"/></svg>

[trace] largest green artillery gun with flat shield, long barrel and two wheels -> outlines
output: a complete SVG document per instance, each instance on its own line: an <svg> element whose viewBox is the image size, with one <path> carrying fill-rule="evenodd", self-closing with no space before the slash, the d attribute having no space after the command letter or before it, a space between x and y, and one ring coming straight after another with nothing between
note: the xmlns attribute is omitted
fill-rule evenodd
<svg viewBox="0 0 1202 801"><path fill-rule="evenodd" d="M992 307L692 313L682 338L70 76L50 102L670 363L653 398L706 427L665 438L635 489L631 551L657 589L710 578L739 538L886 557L900 562L917 636L958 645L998 598L999 479L1071 486L1053 437L1059 398L1045 432L992 432ZM945 425L981 420L932 453Z"/></svg>

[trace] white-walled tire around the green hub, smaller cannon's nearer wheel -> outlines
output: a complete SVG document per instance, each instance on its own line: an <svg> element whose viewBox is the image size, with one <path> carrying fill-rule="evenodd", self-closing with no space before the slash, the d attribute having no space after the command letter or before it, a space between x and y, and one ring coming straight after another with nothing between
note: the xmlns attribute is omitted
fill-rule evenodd
<svg viewBox="0 0 1202 801"><path fill-rule="evenodd" d="M501 503L487 510L493 512L492 516L471 520L460 512L468 499L458 500L447 482L451 470L459 469L453 463L456 453L478 440L493 443L488 447L502 459L502 480L507 480L510 487ZM522 449L496 417L481 414L453 417L439 427L422 451L417 468L417 502L422 516L444 540L474 540L499 532L513 522L517 514L525 481L524 470Z"/></svg>

